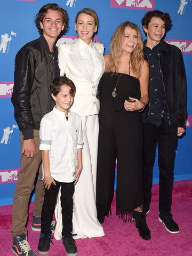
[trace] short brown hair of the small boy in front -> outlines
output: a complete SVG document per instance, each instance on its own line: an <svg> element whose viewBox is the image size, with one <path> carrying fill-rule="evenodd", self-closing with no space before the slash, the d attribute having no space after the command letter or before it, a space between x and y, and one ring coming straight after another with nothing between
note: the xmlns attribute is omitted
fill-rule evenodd
<svg viewBox="0 0 192 256"><path fill-rule="evenodd" d="M66 76L56 77L51 85L51 93L56 96L60 92L60 87L62 85L67 85L70 87L69 93L74 97L76 93L76 87L73 81Z"/></svg>

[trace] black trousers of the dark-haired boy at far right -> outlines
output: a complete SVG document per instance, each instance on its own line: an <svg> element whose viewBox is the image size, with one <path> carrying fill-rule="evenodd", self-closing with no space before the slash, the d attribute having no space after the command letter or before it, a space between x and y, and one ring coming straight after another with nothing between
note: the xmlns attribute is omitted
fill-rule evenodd
<svg viewBox="0 0 192 256"><path fill-rule="evenodd" d="M143 124L143 188L146 211L149 210L151 201L156 145L158 145L159 166L159 211L161 213L171 211L177 142L176 123L169 125L162 122L162 125L159 126L149 123Z"/></svg>

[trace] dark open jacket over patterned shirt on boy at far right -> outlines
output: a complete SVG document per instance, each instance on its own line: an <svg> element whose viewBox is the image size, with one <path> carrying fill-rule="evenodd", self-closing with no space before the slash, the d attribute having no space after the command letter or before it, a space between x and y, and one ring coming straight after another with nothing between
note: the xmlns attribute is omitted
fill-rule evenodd
<svg viewBox="0 0 192 256"><path fill-rule="evenodd" d="M145 42L144 42L145 44ZM169 124L177 123L178 127L185 128L187 118L187 89L186 74L182 53L177 46L162 41L159 50L159 66L163 78L164 90L167 103L167 118ZM144 58L148 61L147 53ZM149 81L149 103L142 113L142 120L147 122L150 106L150 81Z"/></svg>

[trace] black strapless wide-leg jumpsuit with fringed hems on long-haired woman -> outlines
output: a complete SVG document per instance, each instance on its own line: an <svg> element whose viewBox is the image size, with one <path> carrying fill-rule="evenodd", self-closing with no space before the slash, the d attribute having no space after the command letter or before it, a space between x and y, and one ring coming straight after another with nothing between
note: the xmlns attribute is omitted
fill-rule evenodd
<svg viewBox="0 0 192 256"><path fill-rule="evenodd" d="M118 84L114 98L115 75ZM104 73L98 85L100 112L96 200L98 214L108 216L114 196L117 159L116 214L126 221L135 208L143 205L141 113L124 109L125 99L140 99L140 84L133 76L115 75Z"/></svg>

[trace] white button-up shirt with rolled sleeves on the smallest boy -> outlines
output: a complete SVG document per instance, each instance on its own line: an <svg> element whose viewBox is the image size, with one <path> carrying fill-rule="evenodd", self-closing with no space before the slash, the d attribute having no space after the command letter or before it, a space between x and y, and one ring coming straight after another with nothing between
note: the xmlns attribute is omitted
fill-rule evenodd
<svg viewBox="0 0 192 256"><path fill-rule="evenodd" d="M41 121L40 150L49 150L51 177L60 182L73 182L78 167L77 149L83 148L81 117L69 110L53 108ZM44 171L43 171L44 179Z"/></svg>

